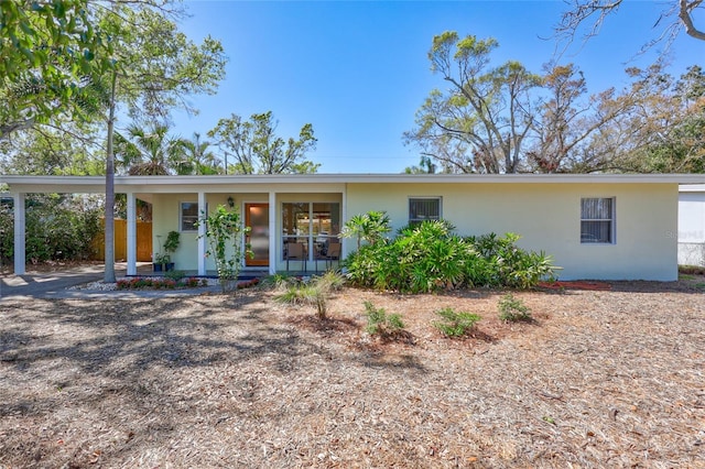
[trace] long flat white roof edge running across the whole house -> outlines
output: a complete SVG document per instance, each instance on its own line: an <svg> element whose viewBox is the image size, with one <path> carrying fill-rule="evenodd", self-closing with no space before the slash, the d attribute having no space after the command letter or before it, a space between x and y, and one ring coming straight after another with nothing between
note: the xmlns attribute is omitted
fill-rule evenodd
<svg viewBox="0 0 705 469"><path fill-rule="evenodd" d="M115 176L118 194L169 194L183 192L227 193L268 190L276 187L333 189L346 184L684 184L705 183L703 174L257 174L213 176ZM0 175L10 193L105 193L105 176Z"/></svg>

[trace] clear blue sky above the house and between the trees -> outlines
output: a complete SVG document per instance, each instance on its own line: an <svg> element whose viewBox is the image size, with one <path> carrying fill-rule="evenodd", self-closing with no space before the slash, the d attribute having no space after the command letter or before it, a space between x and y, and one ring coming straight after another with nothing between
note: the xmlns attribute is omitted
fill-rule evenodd
<svg viewBox="0 0 705 469"><path fill-rule="evenodd" d="M196 117L174 116L174 133L205 137L220 118L271 110L278 134L296 137L311 122L318 139L308 159L319 173L399 173L419 163L402 133L434 88L427 52L434 35L495 37L496 65L520 61L539 73L555 52L561 1L207 1L186 0L182 30L194 41L219 39L229 57L216 96L194 97ZM630 1L600 34L576 42L561 63L575 63L592 91L628 81L627 65L652 37L663 2ZM684 34L671 50L671 73L703 65L705 42Z"/></svg>

